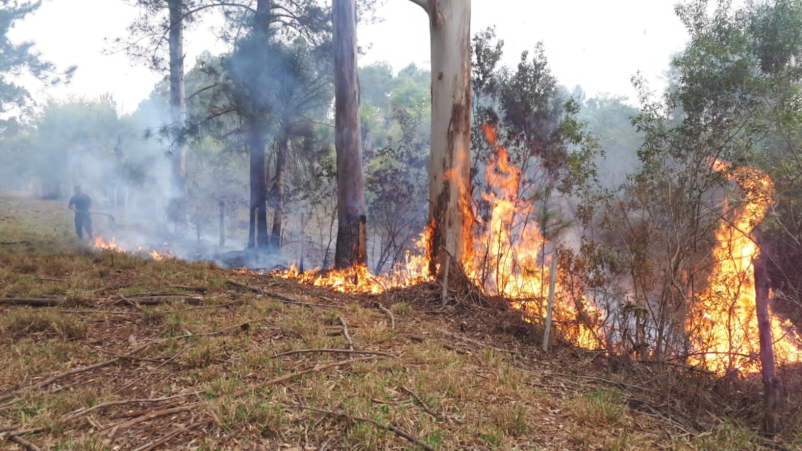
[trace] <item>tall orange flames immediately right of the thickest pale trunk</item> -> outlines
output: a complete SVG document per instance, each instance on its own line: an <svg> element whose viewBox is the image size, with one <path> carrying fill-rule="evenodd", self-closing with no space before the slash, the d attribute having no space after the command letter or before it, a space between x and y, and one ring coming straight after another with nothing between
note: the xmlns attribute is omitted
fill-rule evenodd
<svg viewBox="0 0 802 451"><path fill-rule="evenodd" d="M487 189L482 199L489 205L489 220L484 233L475 238L473 261L464 266L486 293L510 299L512 307L525 312L525 319L544 319L551 277L549 261L553 258L546 250L555 245L543 237L541 225L534 219L537 212L533 201L522 196L522 170L512 165L507 148L497 143L496 128L484 124L483 130L496 151L484 172ZM590 324L602 312L583 295L571 291L562 282L565 274L559 273L554 321L573 325L564 327L562 333L577 345L598 347L601 333Z"/></svg>

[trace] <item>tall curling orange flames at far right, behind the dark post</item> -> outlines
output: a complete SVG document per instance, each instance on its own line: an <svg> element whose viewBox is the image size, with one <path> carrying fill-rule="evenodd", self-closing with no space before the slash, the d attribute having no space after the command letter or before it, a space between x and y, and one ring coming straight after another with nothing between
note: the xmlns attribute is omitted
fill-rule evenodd
<svg viewBox="0 0 802 451"><path fill-rule="evenodd" d="M719 374L731 371L759 372L759 336L755 314L755 283L752 259L759 248L751 231L763 220L774 196L774 185L767 174L751 168L731 169L716 160L711 167L734 180L746 201L735 211L735 218L724 220L716 232L714 265L708 286L692 306L688 319L691 343L698 356L691 364ZM802 347L788 321L771 315L774 350L778 364L799 362Z"/></svg>

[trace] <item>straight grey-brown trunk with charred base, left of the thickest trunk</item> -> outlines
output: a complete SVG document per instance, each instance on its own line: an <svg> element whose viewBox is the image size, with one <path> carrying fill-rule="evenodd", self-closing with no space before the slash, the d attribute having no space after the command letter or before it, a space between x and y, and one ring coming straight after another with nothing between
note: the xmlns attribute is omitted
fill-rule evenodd
<svg viewBox="0 0 802 451"><path fill-rule="evenodd" d="M356 3L332 2L334 22L334 129L337 152L337 243L334 267L365 264L359 79L356 61Z"/></svg>

